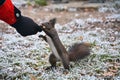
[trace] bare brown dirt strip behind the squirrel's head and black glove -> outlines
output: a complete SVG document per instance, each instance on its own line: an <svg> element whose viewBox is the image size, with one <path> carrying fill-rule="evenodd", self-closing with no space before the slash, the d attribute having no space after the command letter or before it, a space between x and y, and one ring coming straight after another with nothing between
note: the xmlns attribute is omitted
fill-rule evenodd
<svg viewBox="0 0 120 80"><path fill-rule="evenodd" d="M100 13L98 11L76 11L76 12L68 12L68 11L58 11L58 12L50 12L41 8L33 8L27 7L21 9L23 15L28 16L34 19L36 22L49 20L51 18L57 18L57 22L60 24L66 24L74 19L84 19L88 17L96 17L96 18L104 18L105 16L111 13Z"/></svg>

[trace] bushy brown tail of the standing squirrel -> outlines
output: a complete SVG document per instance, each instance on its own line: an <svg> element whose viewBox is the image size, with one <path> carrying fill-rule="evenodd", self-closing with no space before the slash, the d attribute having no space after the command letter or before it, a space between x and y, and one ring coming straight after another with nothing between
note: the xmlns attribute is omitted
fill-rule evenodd
<svg viewBox="0 0 120 80"><path fill-rule="evenodd" d="M75 43L68 50L69 60L78 61L90 55L90 45L86 43Z"/></svg>

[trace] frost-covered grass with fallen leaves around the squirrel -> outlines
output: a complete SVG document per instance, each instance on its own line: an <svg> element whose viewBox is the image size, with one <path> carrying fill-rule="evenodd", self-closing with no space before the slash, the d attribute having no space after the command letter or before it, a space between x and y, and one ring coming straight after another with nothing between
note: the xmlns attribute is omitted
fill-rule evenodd
<svg viewBox="0 0 120 80"><path fill-rule="evenodd" d="M120 20L120 14L106 16L108 23L113 19ZM75 19L65 25L56 24L55 27L66 49L76 42L88 42L93 45L91 55L81 61L71 62L72 68L66 72L61 63L58 63L58 68L55 70L45 70L50 66L48 58L51 51L49 45L38 38L39 34L44 33L28 37L22 37L16 31L4 33L0 49L0 78L5 80L119 80L120 32L111 28L98 27L94 23L101 26L105 24L102 19L94 17Z"/></svg>

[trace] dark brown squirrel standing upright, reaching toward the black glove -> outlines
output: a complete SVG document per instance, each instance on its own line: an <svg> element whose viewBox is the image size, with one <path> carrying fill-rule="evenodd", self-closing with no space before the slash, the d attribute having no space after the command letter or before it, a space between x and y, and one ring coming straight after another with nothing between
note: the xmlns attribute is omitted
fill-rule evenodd
<svg viewBox="0 0 120 80"><path fill-rule="evenodd" d="M46 35L39 35L40 38L43 38L49 44L52 50L52 54L49 56L51 66L46 69L56 67L57 61L61 60L64 68L69 70L70 61L78 61L90 55L90 44L75 43L68 51L66 51L54 28L55 22L56 19L52 19L49 22L42 24L42 30Z"/></svg>

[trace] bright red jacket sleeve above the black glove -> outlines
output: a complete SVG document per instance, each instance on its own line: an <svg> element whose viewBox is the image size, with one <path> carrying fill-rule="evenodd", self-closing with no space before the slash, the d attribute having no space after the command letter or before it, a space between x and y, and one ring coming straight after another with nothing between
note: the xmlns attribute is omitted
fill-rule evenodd
<svg viewBox="0 0 120 80"><path fill-rule="evenodd" d="M5 0L5 2L0 5L0 20L5 21L9 25L14 24L16 22L14 8L11 0Z"/></svg>

